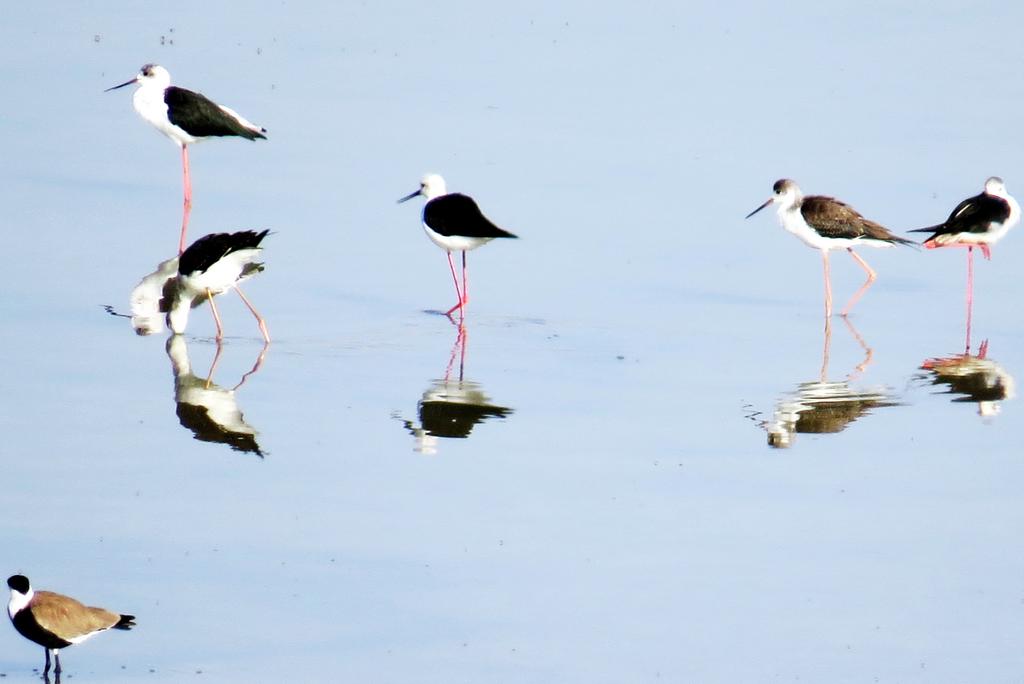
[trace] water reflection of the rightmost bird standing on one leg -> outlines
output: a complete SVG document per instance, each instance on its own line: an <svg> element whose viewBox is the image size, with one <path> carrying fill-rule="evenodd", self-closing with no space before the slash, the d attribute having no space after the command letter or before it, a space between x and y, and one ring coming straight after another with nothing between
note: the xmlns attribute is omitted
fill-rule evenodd
<svg viewBox="0 0 1024 684"><path fill-rule="evenodd" d="M946 386L944 393L955 395L953 402L977 403L982 418L998 414L999 401L1017 394L1013 376L988 358L988 340L981 343L977 354L972 354L969 347L963 354L926 359L921 370L924 373L919 379Z"/></svg>

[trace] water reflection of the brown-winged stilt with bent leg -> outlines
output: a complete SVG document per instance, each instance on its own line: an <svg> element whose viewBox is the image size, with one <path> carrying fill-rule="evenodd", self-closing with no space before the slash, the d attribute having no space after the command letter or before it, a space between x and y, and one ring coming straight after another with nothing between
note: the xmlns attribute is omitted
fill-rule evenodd
<svg viewBox="0 0 1024 684"><path fill-rule="evenodd" d="M871 362L871 348L850 323L843 323L864 352L861 360L846 380L828 380L828 356L831 346L831 319L825 318L824 345L821 353L821 372L817 380L803 382L797 389L782 396L775 404L771 421L761 426L768 432L768 445L785 448L793 444L798 432L823 434L842 432L850 423L873 409L895 407L892 392L886 387L857 389L850 386Z"/></svg>

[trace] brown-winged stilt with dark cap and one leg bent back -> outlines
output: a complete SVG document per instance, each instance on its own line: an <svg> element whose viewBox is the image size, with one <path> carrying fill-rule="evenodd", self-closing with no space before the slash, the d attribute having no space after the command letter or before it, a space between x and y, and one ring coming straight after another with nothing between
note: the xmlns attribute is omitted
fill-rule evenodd
<svg viewBox="0 0 1024 684"><path fill-rule="evenodd" d="M853 207L830 197L810 195L805 197L796 182L783 178L775 181L773 195L768 201L746 215L754 216L771 204L778 205L778 219L782 227L807 245L821 252L825 277L825 316L831 315L831 283L828 275L829 250L845 249L867 273L867 281L854 293L843 308L847 315L857 300L867 291L877 274L856 252L854 247L892 247L915 243L892 233L888 228L860 215Z"/></svg>

